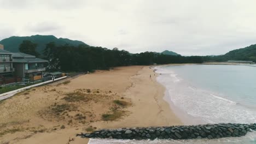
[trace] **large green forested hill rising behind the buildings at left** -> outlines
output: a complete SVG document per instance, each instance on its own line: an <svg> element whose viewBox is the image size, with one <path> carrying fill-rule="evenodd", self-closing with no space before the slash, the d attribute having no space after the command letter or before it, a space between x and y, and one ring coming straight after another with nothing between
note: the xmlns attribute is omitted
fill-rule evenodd
<svg viewBox="0 0 256 144"><path fill-rule="evenodd" d="M0 41L0 44L4 45L4 49L10 52L19 52L19 46L23 40L30 40L32 43L38 44L37 51L42 53L45 49L45 44L54 41L56 45L74 45L80 44L86 45L83 41L70 40L65 38L56 38L54 35L32 35L31 37L10 37Z"/></svg>

